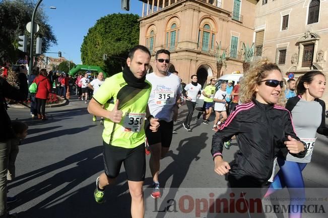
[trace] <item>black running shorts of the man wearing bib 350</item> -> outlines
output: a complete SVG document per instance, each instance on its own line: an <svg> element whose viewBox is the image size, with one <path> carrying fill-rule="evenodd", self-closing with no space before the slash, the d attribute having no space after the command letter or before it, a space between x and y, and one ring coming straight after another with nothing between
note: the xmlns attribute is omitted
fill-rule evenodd
<svg viewBox="0 0 328 218"><path fill-rule="evenodd" d="M133 149L111 146L103 141L105 174L109 178L116 178L122 163L124 164L127 180L140 182L145 180L146 158L145 143Z"/></svg>

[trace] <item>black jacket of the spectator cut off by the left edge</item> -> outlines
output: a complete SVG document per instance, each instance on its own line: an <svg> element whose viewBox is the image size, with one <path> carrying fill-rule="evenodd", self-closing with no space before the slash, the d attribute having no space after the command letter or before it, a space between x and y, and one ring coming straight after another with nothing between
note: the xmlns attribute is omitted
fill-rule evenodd
<svg viewBox="0 0 328 218"><path fill-rule="evenodd" d="M19 90L11 86L4 78L0 77L0 141L15 137L11 126L11 120L7 113L6 99L25 101L28 94L27 78L25 74L19 74Z"/></svg>

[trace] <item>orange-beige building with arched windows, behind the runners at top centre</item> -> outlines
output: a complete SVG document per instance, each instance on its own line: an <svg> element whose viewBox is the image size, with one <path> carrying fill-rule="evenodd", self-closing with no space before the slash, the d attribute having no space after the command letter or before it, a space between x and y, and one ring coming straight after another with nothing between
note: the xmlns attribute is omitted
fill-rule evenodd
<svg viewBox="0 0 328 218"><path fill-rule="evenodd" d="M241 43L251 44L257 1L251 0L140 0L140 44L152 53L151 69L155 67L156 51L171 52L170 71L189 83L197 75L206 85L217 75L242 72ZM217 72L217 43L226 49L227 61Z"/></svg>

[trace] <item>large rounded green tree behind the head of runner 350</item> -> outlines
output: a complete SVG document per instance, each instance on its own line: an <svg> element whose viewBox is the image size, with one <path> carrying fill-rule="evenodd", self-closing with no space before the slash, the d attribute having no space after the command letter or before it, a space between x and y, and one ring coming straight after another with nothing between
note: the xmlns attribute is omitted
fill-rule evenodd
<svg viewBox="0 0 328 218"><path fill-rule="evenodd" d="M128 51L139 44L139 16L111 14L90 28L81 46L83 64L97 65L109 75L122 71ZM103 60L107 54L107 60Z"/></svg>

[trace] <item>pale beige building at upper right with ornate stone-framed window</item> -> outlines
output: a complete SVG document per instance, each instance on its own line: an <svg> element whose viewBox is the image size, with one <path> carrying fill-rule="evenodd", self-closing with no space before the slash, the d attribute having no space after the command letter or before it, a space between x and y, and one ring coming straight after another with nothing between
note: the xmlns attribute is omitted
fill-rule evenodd
<svg viewBox="0 0 328 218"><path fill-rule="evenodd" d="M257 53L275 61L285 77L314 69L328 72L328 1L262 0L256 5ZM328 103L328 93L323 100Z"/></svg>

